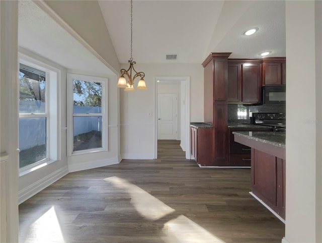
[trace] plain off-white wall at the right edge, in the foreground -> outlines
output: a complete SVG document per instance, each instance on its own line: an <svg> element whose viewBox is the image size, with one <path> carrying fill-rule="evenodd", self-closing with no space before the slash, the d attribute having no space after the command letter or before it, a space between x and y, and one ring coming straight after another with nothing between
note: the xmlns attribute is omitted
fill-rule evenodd
<svg viewBox="0 0 322 243"><path fill-rule="evenodd" d="M285 242L322 240L320 16L319 1L286 1Z"/></svg>

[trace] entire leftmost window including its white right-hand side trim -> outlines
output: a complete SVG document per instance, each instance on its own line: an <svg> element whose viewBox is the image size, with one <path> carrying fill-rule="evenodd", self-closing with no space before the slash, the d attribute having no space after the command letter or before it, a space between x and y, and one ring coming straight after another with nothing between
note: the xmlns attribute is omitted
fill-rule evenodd
<svg viewBox="0 0 322 243"><path fill-rule="evenodd" d="M21 173L59 157L59 71L20 54L19 168Z"/></svg>

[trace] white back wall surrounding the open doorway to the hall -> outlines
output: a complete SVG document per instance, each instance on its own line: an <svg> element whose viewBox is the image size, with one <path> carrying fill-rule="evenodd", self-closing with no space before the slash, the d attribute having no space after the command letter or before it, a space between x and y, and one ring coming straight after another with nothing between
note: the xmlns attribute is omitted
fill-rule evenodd
<svg viewBox="0 0 322 243"><path fill-rule="evenodd" d="M128 65L122 65L128 69ZM190 121L203 121L203 67L201 64L136 64L145 73L147 90L120 89L120 151L122 158L154 158L155 76L190 77ZM134 87L137 85L135 82ZM152 112L152 116L147 116ZM183 132L183 131L181 131Z"/></svg>

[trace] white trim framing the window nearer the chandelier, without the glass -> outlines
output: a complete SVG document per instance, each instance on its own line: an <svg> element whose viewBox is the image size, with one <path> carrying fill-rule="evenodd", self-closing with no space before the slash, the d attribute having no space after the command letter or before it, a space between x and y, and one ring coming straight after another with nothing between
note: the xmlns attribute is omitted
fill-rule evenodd
<svg viewBox="0 0 322 243"><path fill-rule="evenodd" d="M102 147L86 149L80 151L73 151L73 81L82 80L87 82L100 82L102 83ZM103 77L94 77L80 74L67 74L67 153L68 156L82 155L88 153L96 153L108 151L108 79ZM83 116L84 114L82 114ZM96 116L97 114L85 114L85 116Z"/></svg>

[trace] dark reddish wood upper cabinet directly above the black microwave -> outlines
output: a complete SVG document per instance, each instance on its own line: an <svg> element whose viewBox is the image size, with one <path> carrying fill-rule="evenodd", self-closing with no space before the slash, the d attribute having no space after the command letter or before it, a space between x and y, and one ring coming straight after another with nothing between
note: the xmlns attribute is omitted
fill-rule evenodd
<svg viewBox="0 0 322 243"><path fill-rule="evenodd" d="M262 85L285 84L286 58L265 57L262 64Z"/></svg>

